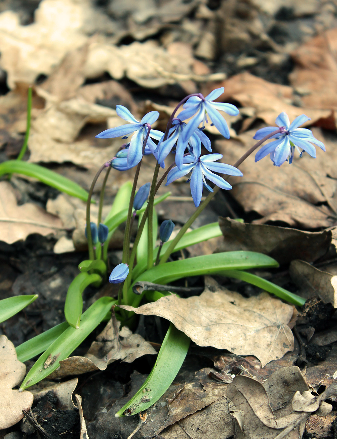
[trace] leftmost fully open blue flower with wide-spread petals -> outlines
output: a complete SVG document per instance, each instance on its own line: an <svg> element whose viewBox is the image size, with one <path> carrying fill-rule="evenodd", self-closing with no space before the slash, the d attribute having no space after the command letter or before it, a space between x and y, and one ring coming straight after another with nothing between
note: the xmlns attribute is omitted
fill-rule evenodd
<svg viewBox="0 0 337 439"><path fill-rule="evenodd" d="M139 122L136 120L129 110L122 105L116 107L117 115L122 119L131 122L126 125L117 126L116 128L110 128L97 134L99 139L107 139L112 137L122 137L123 139L133 133L130 140L130 148L128 150L127 166L128 169L136 166L142 159L142 149L146 134L149 130L149 125L158 119L159 113L157 111L151 111L142 118ZM156 140L160 140L163 136L161 131L151 130L149 137L153 137ZM147 140L146 145L150 148L151 152L154 152L157 145L150 138Z"/></svg>

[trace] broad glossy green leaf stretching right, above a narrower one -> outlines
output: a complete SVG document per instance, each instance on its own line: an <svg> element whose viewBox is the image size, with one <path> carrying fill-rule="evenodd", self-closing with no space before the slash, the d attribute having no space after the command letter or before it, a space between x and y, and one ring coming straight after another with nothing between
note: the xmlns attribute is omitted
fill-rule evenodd
<svg viewBox="0 0 337 439"><path fill-rule="evenodd" d="M182 277L221 273L223 270L249 270L250 268L277 266L275 259L262 253L222 252L157 265L142 273L135 279L135 282L149 281L156 284L168 284ZM132 306L138 306L142 295L135 295L132 288L128 294L129 297L134 297Z"/></svg>

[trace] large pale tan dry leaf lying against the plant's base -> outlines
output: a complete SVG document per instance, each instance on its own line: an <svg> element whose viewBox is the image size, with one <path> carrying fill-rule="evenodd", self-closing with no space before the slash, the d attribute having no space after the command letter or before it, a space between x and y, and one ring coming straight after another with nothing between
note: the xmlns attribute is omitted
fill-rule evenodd
<svg viewBox="0 0 337 439"><path fill-rule="evenodd" d="M255 355L262 367L294 349L294 337L287 326L292 306L267 293L243 298L211 278L206 279L200 296L181 299L170 295L139 308L121 308L170 320L199 346Z"/></svg>

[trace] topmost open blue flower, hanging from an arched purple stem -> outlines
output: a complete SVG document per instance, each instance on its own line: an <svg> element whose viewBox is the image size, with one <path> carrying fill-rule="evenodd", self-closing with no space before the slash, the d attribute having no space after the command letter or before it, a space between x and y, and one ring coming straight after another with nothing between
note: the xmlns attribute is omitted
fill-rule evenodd
<svg viewBox="0 0 337 439"><path fill-rule="evenodd" d="M235 105L232 104L213 102L214 99L223 94L224 90L225 89L223 87L216 88L206 97L203 97L202 95L202 97L192 96L184 103L184 110L178 115L179 119L184 120L194 116L184 128L182 133L182 138L184 141L188 140L192 136L201 122L203 122L203 125L205 125L205 121L207 122L207 115L212 121L212 124L216 126L223 137L229 139L227 122L225 119L223 119L222 115L219 113L219 110L224 111L231 116L237 116L239 114L239 110L235 107Z"/></svg>

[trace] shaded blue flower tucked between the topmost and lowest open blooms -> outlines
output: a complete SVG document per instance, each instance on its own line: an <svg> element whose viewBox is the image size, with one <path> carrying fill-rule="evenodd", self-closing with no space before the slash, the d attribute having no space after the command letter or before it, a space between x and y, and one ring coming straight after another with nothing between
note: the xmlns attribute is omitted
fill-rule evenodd
<svg viewBox="0 0 337 439"><path fill-rule="evenodd" d="M156 148L156 151L158 151L158 163L160 163L160 166L163 168L165 167L164 160L174 145L176 145L175 162L179 169L181 169L183 164L186 148L188 148L191 155L195 155L196 157L200 156L201 144L203 144L208 151L212 151L209 138L201 130L195 130L189 139L183 140L181 134L187 124L176 118L173 119L172 125L173 127L169 130L168 138L164 141L160 141Z"/></svg>

